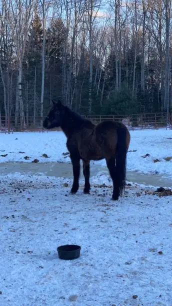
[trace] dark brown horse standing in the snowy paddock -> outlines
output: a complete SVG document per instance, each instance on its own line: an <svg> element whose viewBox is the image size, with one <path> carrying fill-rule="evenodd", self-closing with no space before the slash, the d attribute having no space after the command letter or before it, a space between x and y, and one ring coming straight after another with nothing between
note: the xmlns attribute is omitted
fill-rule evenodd
<svg viewBox="0 0 172 306"><path fill-rule="evenodd" d="M89 162L105 158L113 181L112 199L117 200L125 186L126 153L130 141L126 126L110 120L94 125L59 100L57 103L52 101L52 108L43 121L44 128L58 126L67 137L66 145L73 167L71 193L76 193L79 187L80 159L85 178L83 191L89 193Z"/></svg>

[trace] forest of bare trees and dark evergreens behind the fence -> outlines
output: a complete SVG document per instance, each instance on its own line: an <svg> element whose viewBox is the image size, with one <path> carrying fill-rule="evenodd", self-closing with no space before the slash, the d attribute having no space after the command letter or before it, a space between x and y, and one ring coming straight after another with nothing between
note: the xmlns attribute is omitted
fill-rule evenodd
<svg viewBox="0 0 172 306"><path fill-rule="evenodd" d="M0 124L172 110L172 0L0 0Z"/></svg>

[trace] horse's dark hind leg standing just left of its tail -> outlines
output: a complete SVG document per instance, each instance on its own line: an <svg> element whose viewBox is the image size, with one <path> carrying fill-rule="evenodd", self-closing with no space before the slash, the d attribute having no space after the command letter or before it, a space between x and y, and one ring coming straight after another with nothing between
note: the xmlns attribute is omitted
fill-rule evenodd
<svg viewBox="0 0 172 306"><path fill-rule="evenodd" d="M112 199L117 200L120 194L120 189L117 183L117 172L116 172L116 166L115 166L115 157L110 157L109 159L106 159L106 164L111 176L111 179L113 181L113 193L112 193Z"/></svg>

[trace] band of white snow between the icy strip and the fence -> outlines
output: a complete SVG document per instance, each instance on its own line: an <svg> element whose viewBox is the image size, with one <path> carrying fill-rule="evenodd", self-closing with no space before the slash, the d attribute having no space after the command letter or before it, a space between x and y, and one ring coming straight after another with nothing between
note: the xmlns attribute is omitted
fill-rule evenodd
<svg viewBox="0 0 172 306"><path fill-rule="evenodd" d="M172 130L134 130L130 131L130 134L127 169L172 177L172 159L169 161L164 159L172 155ZM67 152L67 148L66 137L61 131L0 133L0 143L0 155L7 154L5 157L0 156L0 162L30 162L34 158L40 162L70 162L70 158L62 154ZM46 153L49 158L42 157L43 153ZM150 156L142 157L147 153ZM25 155L29 156L28 160L23 158ZM153 162L155 159L159 161ZM96 163L106 166L104 159Z"/></svg>

